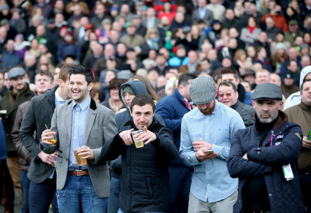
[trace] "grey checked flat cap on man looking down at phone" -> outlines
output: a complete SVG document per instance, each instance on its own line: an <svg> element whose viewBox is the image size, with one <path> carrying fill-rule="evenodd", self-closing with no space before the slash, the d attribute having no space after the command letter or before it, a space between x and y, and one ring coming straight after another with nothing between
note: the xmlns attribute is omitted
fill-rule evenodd
<svg viewBox="0 0 311 213"><path fill-rule="evenodd" d="M191 81L190 97L195 104L211 102L216 95L216 86L212 77L199 76Z"/></svg>

